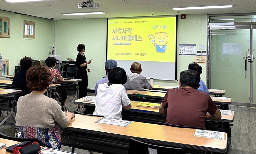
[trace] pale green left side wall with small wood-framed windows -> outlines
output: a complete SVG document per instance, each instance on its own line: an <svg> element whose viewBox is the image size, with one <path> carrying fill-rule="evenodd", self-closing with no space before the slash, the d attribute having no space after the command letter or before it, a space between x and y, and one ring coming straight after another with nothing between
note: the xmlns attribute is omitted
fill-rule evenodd
<svg viewBox="0 0 256 154"><path fill-rule="evenodd" d="M15 73L20 59L29 56L35 60L45 60L54 46L54 21L28 15L15 14L0 10L0 17L10 18L10 39L0 38L0 53L4 60L9 60L9 75ZM23 22L34 21L35 39L23 39Z"/></svg>

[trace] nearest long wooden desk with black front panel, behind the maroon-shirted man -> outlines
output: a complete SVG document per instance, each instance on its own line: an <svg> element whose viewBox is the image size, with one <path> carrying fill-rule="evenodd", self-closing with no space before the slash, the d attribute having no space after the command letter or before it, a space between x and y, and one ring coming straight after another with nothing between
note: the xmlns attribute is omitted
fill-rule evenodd
<svg viewBox="0 0 256 154"><path fill-rule="evenodd" d="M101 153L128 153L129 139L149 144L227 152L224 140L195 137L196 129L132 122L127 127L95 123L101 117L77 115L61 133L61 144Z"/></svg>

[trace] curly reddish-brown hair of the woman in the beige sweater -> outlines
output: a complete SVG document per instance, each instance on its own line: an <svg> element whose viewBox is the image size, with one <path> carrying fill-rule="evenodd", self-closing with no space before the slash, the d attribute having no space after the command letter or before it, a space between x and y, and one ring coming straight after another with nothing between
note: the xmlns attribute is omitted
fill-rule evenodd
<svg viewBox="0 0 256 154"><path fill-rule="evenodd" d="M34 66L28 69L26 81L28 89L43 91L52 84L52 74L48 67L43 65Z"/></svg>

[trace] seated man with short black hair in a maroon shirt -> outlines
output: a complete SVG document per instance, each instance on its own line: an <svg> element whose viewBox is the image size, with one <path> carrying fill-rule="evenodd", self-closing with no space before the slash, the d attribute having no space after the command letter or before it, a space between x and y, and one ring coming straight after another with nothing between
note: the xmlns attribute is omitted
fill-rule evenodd
<svg viewBox="0 0 256 154"><path fill-rule="evenodd" d="M166 114L166 123L205 129L205 116L220 119L220 110L211 97L200 91L200 74L194 70L180 72L180 88L169 89L160 104L159 113Z"/></svg>

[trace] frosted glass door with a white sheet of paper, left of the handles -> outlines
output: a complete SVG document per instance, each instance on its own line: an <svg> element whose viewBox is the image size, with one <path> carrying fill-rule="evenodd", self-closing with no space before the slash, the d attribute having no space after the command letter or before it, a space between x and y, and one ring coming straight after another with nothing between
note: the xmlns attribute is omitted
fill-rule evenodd
<svg viewBox="0 0 256 154"><path fill-rule="evenodd" d="M250 64L244 60L251 52L250 34L251 26L210 27L211 89L224 89L232 102L250 103Z"/></svg>

